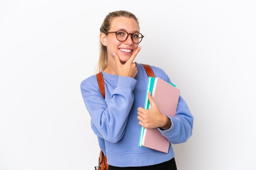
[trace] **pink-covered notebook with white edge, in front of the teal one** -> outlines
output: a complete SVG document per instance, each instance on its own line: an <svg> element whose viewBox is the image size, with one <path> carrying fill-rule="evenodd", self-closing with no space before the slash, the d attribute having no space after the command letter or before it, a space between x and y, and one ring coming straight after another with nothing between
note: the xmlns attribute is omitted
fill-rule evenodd
<svg viewBox="0 0 256 170"><path fill-rule="evenodd" d="M155 78L152 97L161 113L175 116L180 97L179 89L161 78ZM169 145L170 142L157 128L144 129L141 146L168 153Z"/></svg>

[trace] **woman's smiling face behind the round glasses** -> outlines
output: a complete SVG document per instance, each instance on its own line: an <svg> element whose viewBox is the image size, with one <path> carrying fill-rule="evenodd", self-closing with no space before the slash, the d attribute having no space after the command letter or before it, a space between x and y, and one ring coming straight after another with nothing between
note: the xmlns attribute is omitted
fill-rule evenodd
<svg viewBox="0 0 256 170"><path fill-rule="evenodd" d="M109 32L124 30L127 33L138 33L139 25L133 18L115 17L112 20ZM132 53L138 48L139 44L132 41L131 35L125 41L119 41L115 33L108 33L106 36L106 44L108 49L108 59L114 59L113 53L117 53L121 63L126 63L130 59Z"/></svg>

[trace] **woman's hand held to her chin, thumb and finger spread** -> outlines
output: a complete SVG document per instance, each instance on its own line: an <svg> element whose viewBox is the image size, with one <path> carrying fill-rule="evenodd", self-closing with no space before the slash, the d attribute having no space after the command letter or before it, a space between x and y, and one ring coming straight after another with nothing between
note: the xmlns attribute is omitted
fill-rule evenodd
<svg viewBox="0 0 256 170"><path fill-rule="evenodd" d="M135 57L139 53L140 49L141 49L141 47L138 47L135 50L135 52L133 52L130 59L128 59L126 61L126 63L124 63L124 64L121 63L118 54L114 53L115 61L116 61L116 64L117 64L118 76L129 76L129 77L135 78L135 76L138 73L138 70L136 68L136 64L133 63L133 60L135 59Z"/></svg>

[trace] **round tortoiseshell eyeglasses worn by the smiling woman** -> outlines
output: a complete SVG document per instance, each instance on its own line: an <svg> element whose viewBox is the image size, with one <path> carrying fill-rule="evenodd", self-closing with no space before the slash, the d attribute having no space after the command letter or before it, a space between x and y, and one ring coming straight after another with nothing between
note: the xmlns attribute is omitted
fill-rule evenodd
<svg viewBox="0 0 256 170"><path fill-rule="evenodd" d="M115 33L118 41L125 41L128 38L128 35L131 35L132 42L135 44L139 44L144 37L141 33L127 33L124 30L114 31L114 32L107 32L108 33Z"/></svg>

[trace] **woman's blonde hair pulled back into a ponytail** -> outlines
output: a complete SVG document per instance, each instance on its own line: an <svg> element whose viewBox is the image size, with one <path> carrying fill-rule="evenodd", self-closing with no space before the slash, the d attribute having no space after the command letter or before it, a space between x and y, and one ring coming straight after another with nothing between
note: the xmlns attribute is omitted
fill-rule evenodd
<svg viewBox="0 0 256 170"><path fill-rule="evenodd" d="M139 25L139 21L134 14L132 14L128 11L114 11L114 12L108 13L108 15L105 17L105 19L101 25L101 28L100 28L101 33L107 33L110 30L111 21L115 17L133 18ZM101 41L99 42L99 46L100 46L99 61L98 61L96 70L98 72L101 72L108 66L108 52L107 52L107 47L103 46L103 44L101 44Z"/></svg>

